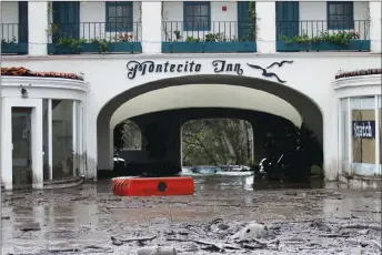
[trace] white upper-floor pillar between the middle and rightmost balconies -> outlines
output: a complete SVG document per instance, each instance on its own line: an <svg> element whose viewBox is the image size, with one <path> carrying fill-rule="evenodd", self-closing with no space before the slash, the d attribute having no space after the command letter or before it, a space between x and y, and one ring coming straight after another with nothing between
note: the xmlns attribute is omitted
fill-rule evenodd
<svg viewBox="0 0 382 255"><path fill-rule="evenodd" d="M259 53L275 53L275 2L257 2Z"/></svg>

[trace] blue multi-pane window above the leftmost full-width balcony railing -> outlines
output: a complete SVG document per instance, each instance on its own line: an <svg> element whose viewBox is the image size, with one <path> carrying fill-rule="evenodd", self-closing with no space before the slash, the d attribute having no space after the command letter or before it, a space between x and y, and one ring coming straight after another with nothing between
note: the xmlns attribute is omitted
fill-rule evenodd
<svg viewBox="0 0 382 255"><path fill-rule="evenodd" d="M110 17L109 9L122 7L124 11L128 12L127 16L118 17ZM132 32L133 31L133 2L124 2L124 1L107 1L105 2L105 31L107 32ZM110 18L114 18L115 22L110 22ZM122 22L117 22L117 18L122 19ZM123 20L127 20L124 22Z"/></svg>

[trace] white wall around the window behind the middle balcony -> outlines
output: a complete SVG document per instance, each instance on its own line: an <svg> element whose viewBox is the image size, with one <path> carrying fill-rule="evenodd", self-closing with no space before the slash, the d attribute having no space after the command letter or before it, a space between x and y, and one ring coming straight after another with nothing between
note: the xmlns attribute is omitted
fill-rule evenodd
<svg viewBox="0 0 382 255"><path fill-rule="evenodd" d="M211 2L211 30L210 31L183 31L183 2L163 2L162 40L175 41L174 31L181 32L181 40L187 37L204 39L208 33L224 33L228 39L238 37L238 2ZM227 7L227 11L222 11Z"/></svg>

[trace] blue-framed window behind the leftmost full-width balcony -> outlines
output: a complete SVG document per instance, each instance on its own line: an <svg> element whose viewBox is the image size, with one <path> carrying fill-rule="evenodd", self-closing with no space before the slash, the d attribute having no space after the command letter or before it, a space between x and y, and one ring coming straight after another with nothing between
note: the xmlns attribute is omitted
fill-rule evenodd
<svg viewBox="0 0 382 255"><path fill-rule="evenodd" d="M131 32L132 2L107 2L107 32Z"/></svg>

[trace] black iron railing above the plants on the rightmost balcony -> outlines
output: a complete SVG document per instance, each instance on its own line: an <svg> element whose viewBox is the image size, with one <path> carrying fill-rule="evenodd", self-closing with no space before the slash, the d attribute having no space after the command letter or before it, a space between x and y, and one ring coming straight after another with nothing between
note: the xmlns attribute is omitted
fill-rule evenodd
<svg viewBox="0 0 382 255"><path fill-rule="evenodd" d="M295 35L308 35L309 38L318 38L323 35L334 35L340 33L354 33L353 39L370 39L370 21L354 20L352 22L328 20L300 20L300 21L278 21L277 34L278 40L282 37L293 38Z"/></svg>

